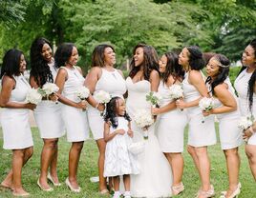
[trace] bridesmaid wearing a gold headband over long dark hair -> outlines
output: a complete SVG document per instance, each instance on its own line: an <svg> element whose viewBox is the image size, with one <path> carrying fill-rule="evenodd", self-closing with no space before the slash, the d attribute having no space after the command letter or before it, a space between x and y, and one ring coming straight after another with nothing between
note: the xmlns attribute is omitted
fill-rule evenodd
<svg viewBox="0 0 256 198"><path fill-rule="evenodd" d="M229 60L222 54L214 55L206 66L206 85L214 97L216 108L203 111L204 116L216 114L219 120L221 146L224 150L229 188L223 198L237 197L240 193L239 168L240 156L238 147L242 145L242 132L238 128L240 111L237 108L237 97L228 78Z"/></svg>

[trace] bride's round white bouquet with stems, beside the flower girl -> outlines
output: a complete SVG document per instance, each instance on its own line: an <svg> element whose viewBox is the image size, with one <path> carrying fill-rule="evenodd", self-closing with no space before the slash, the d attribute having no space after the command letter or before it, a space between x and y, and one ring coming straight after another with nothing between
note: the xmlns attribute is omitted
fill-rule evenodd
<svg viewBox="0 0 256 198"><path fill-rule="evenodd" d="M136 112L134 119L137 126L144 130L144 139L148 139L148 128L154 123L154 119L152 118L150 111L140 109Z"/></svg>

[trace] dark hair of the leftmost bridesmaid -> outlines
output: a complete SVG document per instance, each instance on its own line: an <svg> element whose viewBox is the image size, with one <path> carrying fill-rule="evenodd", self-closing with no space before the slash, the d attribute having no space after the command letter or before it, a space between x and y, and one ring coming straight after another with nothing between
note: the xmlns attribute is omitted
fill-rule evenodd
<svg viewBox="0 0 256 198"><path fill-rule="evenodd" d="M0 78L4 75L8 75L12 78L12 75L18 76L20 74L19 68L21 55L23 55L23 52L18 49L9 49L6 52L3 58Z"/></svg>

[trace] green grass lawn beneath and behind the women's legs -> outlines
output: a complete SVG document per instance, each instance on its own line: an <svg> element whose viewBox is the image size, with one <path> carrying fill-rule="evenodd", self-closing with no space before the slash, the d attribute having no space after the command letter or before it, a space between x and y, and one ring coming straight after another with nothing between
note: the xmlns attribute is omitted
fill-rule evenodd
<svg viewBox="0 0 256 198"><path fill-rule="evenodd" d="M18 129L17 129L18 132ZM205 131L207 132L207 131ZM87 141L84 145L79 169L78 169L78 181L82 188L82 192L79 194L72 193L64 183L68 175L68 152L70 144L65 141L65 138L59 141L59 157L58 157L58 176L62 186L59 188L54 188L53 192L43 192L40 190L36 181L39 175L40 166L40 151L42 148L42 140L39 137L38 130L36 128L32 129L33 140L34 140L34 153L32 159L23 168L23 184L30 193L30 197L43 198L43 197L107 197L102 196L97 193L97 183L91 183L90 177L97 175L97 148L96 143L93 139ZM185 138L187 135L185 135ZM221 150L220 144L212 146L209 148L210 159L211 159L211 183L213 184L216 197L220 196L220 192L227 188L228 181L225 169L224 154ZM256 197L256 185L250 173L248 167L247 159L245 156L244 146L240 148L241 154L241 169L240 169L240 182L242 183L242 193L240 198L255 198ZM185 190L181 195L177 197L183 198L193 198L197 192L200 181L199 176L194 168L191 157L184 151L184 174L183 174L183 184ZM7 172L11 167L11 151L3 149L3 135L0 131L0 181L4 179ZM11 191L8 189L0 188L0 197L12 197Z"/></svg>

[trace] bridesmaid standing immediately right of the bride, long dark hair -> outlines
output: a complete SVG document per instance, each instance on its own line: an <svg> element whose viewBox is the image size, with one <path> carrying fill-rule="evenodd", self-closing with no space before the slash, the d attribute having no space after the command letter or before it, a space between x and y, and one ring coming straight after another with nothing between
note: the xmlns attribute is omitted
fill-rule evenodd
<svg viewBox="0 0 256 198"><path fill-rule="evenodd" d="M160 148L167 158L173 174L173 195L184 190L181 182L183 174L183 131L186 125L186 115L180 109L176 109L175 101L170 98L169 88L179 85L183 79L183 70L178 64L178 55L174 52L164 53L159 61L160 87L162 96L160 108L152 109L152 114L160 115L157 134Z"/></svg>

